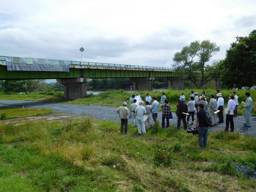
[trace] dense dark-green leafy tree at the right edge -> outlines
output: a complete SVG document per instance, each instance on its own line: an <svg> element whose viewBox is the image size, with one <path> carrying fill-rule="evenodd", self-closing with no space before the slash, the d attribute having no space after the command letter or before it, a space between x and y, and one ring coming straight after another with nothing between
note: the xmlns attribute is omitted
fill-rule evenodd
<svg viewBox="0 0 256 192"><path fill-rule="evenodd" d="M256 84L256 30L249 36L236 37L221 68L220 78L228 88L250 88Z"/></svg>

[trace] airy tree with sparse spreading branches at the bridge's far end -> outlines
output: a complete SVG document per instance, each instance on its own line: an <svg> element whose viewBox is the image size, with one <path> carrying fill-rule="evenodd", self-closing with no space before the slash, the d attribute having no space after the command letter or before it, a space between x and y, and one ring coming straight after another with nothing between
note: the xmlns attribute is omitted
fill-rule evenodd
<svg viewBox="0 0 256 192"><path fill-rule="evenodd" d="M212 79L212 74L207 72L206 62L219 50L220 47L210 40L191 42L189 46L174 54L174 68L184 72L194 86L204 86Z"/></svg>

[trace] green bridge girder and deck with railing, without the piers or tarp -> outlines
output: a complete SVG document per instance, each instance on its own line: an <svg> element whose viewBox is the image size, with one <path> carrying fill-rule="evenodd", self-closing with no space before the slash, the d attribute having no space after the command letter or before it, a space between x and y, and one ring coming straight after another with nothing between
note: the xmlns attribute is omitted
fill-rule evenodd
<svg viewBox="0 0 256 192"><path fill-rule="evenodd" d="M171 68L69 61L70 72L8 71L5 57L0 56L0 80L5 79L57 79L57 78L136 78L178 77Z"/></svg>

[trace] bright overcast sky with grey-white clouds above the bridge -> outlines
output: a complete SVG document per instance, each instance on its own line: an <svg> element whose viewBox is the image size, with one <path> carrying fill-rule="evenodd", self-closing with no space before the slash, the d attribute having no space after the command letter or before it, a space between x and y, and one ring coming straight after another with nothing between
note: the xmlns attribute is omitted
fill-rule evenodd
<svg viewBox="0 0 256 192"><path fill-rule="evenodd" d="M83 46L83 61L170 67L208 39L223 59L255 13L256 0L0 0L0 55L80 61Z"/></svg>

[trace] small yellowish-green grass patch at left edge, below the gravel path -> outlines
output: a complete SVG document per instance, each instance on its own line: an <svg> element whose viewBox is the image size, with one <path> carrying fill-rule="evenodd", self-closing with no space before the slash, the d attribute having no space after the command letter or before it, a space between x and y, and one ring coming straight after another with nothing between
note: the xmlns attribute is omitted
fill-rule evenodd
<svg viewBox="0 0 256 192"><path fill-rule="evenodd" d="M13 109L4 109L0 108L0 120L13 119L19 117L29 117L36 115L44 115L53 113L50 109L38 109L38 108L13 108Z"/></svg>

